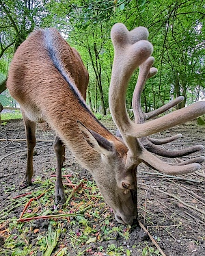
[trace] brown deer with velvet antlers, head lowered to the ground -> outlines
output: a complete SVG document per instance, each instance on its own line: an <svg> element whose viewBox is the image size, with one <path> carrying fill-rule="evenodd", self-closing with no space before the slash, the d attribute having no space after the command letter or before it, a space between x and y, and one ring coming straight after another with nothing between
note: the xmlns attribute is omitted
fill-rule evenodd
<svg viewBox="0 0 205 256"><path fill-rule="evenodd" d="M100 193L113 209L115 220L132 225L137 221L139 164L145 163L165 174L182 175L199 170L204 161L204 157L193 157L175 165L167 164L157 155L180 157L204 147L195 145L166 151L160 145L177 140L180 134L162 140L148 136L201 116L205 113L205 102L193 103L156 118L183 100L178 97L157 110L143 112L141 92L146 81L157 72L152 67L153 47L148 41L148 29L136 27L128 31L124 24L116 23L111 29L111 40L114 59L109 109L120 136L113 135L87 107L86 68L79 53L55 28L33 31L20 44L10 64L7 87L20 104L25 123L28 157L23 182L31 185L36 123L46 121L57 135L54 143L57 158L55 201L65 201L61 165L66 145L77 162L92 174ZM137 68L133 121L128 116L125 98L129 80Z"/></svg>

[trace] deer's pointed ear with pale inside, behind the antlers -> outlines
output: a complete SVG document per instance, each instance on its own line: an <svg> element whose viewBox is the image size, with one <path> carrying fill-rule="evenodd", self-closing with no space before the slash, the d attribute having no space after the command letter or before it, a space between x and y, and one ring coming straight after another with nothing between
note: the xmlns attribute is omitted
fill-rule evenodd
<svg viewBox="0 0 205 256"><path fill-rule="evenodd" d="M109 142L109 140L102 137L99 133L96 133L96 131L87 129L79 120L77 120L77 124L87 143L98 153L109 155L113 152L113 144Z"/></svg>

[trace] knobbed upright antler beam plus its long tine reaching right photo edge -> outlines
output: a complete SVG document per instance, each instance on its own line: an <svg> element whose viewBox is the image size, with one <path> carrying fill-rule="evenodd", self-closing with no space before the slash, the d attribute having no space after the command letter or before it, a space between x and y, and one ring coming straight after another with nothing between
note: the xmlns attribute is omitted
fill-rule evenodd
<svg viewBox="0 0 205 256"><path fill-rule="evenodd" d="M135 69L146 62L152 53L152 44L146 40L147 38L148 30L144 27L128 31L123 24L117 23L111 29L115 57L109 88L109 106L122 138L132 148L133 145L130 146L130 142L133 142L131 137L149 136L205 113L205 101L201 101L148 123L137 124L131 121L125 105L126 89Z"/></svg>

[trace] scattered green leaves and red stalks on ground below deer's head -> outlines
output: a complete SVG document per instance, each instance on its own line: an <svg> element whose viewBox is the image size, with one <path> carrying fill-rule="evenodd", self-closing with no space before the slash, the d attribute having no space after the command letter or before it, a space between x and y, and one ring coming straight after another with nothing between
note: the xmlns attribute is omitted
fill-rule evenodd
<svg viewBox="0 0 205 256"><path fill-rule="evenodd" d="M96 183L78 176L69 179L71 183L64 179L69 201L61 207L54 203L55 177L36 178L32 187L10 198L0 212L4 240L0 255L131 255L132 249L123 242L119 247L113 243L128 240L131 228L115 222ZM18 191L16 186L5 191L8 197ZM103 241L111 241L111 245L105 246Z"/></svg>

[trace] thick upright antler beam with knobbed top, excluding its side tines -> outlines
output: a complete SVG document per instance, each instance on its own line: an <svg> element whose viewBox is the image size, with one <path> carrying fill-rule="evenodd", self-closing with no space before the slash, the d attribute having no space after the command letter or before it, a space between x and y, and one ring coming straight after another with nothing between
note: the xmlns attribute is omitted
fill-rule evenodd
<svg viewBox="0 0 205 256"><path fill-rule="evenodd" d="M117 23L111 29L115 56L109 88L109 107L115 125L134 155L137 154L137 147L140 145L133 136L127 133L133 122L126 110L126 89L135 69L152 54L152 44L147 41L147 38L148 30L145 27L137 27L133 31L128 31L125 25Z"/></svg>

